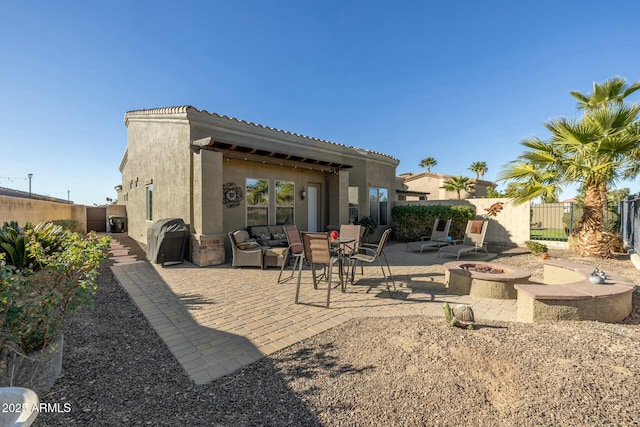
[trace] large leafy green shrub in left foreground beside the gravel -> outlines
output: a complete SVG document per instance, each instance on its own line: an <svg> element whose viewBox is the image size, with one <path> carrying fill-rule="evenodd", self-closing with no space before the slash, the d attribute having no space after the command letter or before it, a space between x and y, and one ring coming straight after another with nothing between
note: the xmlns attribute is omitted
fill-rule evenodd
<svg viewBox="0 0 640 427"><path fill-rule="evenodd" d="M15 224L8 228L16 230ZM18 231L28 262L19 268L0 254L0 344L30 354L57 339L66 317L92 303L110 239L51 223Z"/></svg>

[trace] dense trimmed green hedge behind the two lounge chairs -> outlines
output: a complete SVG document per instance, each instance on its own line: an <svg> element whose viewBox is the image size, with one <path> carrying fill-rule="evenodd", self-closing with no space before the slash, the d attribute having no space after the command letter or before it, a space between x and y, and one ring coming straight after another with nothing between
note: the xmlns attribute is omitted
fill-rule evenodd
<svg viewBox="0 0 640 427"><path fill-rule="evenodd" d="M451 219L449 235L454 239L464 237L467 221L475 218L473 206L395 206L391 209L395 238L398 241L419 240L431 235L437 218Z"/></svg>

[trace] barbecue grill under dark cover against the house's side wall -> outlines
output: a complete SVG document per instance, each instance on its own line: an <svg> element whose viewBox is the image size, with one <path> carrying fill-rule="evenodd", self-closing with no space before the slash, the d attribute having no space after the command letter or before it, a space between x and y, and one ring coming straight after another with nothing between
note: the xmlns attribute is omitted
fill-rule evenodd
<svg viewBox="0 0 640 427"><path fill-rule="evenodd" d="M147 259L155 264L181 263L189 241L189 227L180 218L157 221L147 231Z"/></svg>

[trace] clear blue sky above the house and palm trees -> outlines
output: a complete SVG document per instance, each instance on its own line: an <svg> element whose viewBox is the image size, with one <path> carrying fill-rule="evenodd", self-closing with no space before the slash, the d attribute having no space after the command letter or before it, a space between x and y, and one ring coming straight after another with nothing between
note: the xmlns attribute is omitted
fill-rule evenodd
<svg viewBox="0 0 640 427"><path fill-rule="evenodd" d="M446 3L446 4L445 4ZM88 7L90 5L90 7ZM192 105L493 180L640 80L636 1L14 1L0 7L0 186L115 198L127 111ZM638 96L632 99L638 100ZM636 182L619 187L639 191ZM563 196L573 196L572 189Z"/></svg>

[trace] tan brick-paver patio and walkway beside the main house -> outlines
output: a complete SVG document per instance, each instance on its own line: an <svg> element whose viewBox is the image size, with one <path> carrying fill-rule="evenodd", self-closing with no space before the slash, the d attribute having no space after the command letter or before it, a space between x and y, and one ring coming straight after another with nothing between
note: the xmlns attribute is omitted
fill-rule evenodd
<svg viewBox="0 0 640 427"><path fill-rule="evenodd" d="M405 252L404 244L386 249L398 286L395 298L389 298L380 267L367 265L346 293L332 289L327 309L326 282L313 289L309 270L302 272L300 304L294 304L297 274L278 284L276 268L201 268L188 262L162 268L136 261L115 239L111 249L116 279L196 384L357 317L443 317L442 303L447 301L470 304L480 322L516 320L515 300L449 294L442 263L452 258L439 259L436 251ZM467 258L484 261L494 256Z"/></svg>

